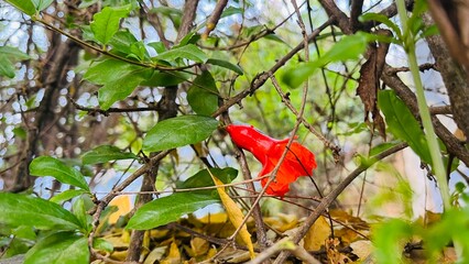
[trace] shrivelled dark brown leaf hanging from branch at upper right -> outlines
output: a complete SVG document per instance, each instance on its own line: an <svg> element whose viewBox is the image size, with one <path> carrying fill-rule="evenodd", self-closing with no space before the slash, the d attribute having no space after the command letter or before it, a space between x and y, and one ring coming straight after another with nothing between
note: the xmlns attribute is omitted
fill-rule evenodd
<svg viewBox="0 0 469 264"><path fill-rule="evenodd" d="M378 30L375 34L391 36L390 30ZM384 120L378 108L378 89L380 86L380 76L383 72L389 44L370 43L367 51L367 62L361 66L360 79L357 88L357 95L364 106L364 121L369 122L369 116L373 121L372 131L378 129L380 135L386 140Z"/></svg>

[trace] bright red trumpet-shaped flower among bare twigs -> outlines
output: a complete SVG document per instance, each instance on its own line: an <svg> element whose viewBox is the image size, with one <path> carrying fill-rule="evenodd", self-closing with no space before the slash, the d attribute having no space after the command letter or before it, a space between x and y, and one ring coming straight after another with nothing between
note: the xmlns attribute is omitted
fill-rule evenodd
<svg viewBox="0 0 469 264"><path fill-rule="evenodd" d="M226 129L239 147L251 152L262 163L263 167L259 176L270 174L275 168L288 143L288 139L272 139L252 125L230 124ZM312 176L316 166L314 154L294 141L279 168L275 180L269 185L266 193L283 197L288 193L291 183L299 176ZM263 178L262 186L265 186L268 180L268 177Z"/></svg>

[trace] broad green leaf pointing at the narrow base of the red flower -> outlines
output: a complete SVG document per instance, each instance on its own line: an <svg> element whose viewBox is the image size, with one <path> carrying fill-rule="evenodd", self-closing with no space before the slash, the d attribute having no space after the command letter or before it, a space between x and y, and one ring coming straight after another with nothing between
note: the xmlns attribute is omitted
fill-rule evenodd
<svg viewBox="0 0 469 264"><path fill-rule="evenodd" d="M207 139L218 127L214 118L183 116L156 123L143 139L143 150L157 152L194 144Z"/></svg>

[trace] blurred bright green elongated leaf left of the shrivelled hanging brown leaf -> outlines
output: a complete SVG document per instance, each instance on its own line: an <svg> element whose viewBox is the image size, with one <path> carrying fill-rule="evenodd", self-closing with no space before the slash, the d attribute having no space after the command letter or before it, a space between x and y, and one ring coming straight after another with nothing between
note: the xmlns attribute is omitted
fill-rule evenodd
<svg viewBox="0 0 469 264"><path fill-rule="evenodd" d="M303 63L286 70L282 80L292 88L298 87L318 68L334 62L345 62L348 59L357 59L367 51L368 43L375 40L377 36L363 32L358 32L355 35L347 35L340 38L324 56L317 61Z"/></svg>

